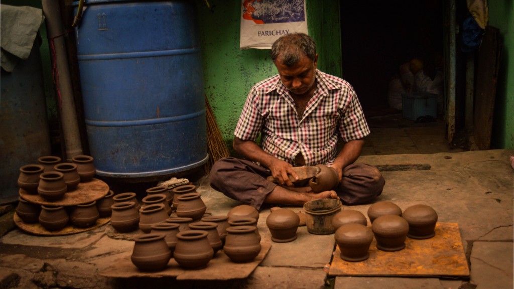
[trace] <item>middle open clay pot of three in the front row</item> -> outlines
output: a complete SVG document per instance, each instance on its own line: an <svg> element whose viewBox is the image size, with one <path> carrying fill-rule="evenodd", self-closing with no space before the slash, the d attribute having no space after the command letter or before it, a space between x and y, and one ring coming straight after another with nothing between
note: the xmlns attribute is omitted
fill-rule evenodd
<svg viewBox="0 0 514 289"><path fill-rule="evenodd" d="M177 263L186 269L199 269L207 266L214 256L208 232L187 230L177 234L177 245L173 257Z"/></svg>

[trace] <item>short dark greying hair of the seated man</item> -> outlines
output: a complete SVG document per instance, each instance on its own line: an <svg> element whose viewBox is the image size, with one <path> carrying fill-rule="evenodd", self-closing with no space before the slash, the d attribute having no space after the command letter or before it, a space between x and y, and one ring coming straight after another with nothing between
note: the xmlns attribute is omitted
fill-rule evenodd
<svg viewBox="0 0 514 289"><path fill-rule="evenodd" d="M296 64L302 56L313 62L316 60L316 43L305 33L287 34L277 39L271 46L271 60L279 60L286 66Z"/></svg>

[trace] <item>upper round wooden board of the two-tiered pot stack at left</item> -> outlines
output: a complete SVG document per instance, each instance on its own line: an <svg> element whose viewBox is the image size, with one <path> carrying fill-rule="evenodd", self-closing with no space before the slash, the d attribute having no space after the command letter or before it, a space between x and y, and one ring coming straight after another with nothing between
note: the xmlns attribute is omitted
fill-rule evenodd
<svg viewBox="0 0 514 289"><path fill-rule="evenodd" d="M47 201L39 194L29 194L20 189L20 195L30 203L51 206L75 206L99 200L109 192L109 186L97 178L89 182L79 183L75 190L66 192L59 201Z"/></svg>

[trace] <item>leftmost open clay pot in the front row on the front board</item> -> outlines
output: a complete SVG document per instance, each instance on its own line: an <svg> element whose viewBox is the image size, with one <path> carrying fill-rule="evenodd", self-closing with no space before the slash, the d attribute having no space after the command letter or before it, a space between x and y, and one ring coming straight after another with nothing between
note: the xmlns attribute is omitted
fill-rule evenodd
<svg viewBox="0 0 514 289"><path fill-rule="evenodd" d="M131 261L141 271L160 271L171 259L171 251L164 234L141 234L134 237Z"/></svg>

